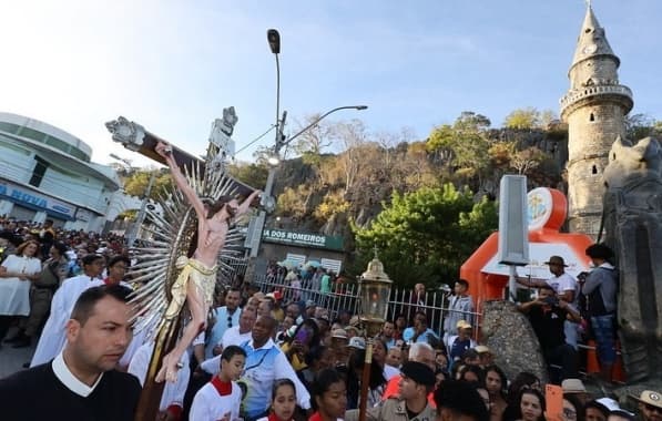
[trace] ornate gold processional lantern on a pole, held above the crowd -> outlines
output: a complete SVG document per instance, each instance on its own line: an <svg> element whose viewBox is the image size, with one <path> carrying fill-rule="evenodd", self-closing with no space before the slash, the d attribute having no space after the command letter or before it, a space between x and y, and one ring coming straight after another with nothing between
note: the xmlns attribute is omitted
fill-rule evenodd
<svg viewBox="0 0 662 421"><path fill-rule="evenodd" d="M388 312L388 300L393 280L384 271L384 265L375 257L368 268L358 278L360 308L359 318L366 329L366 359L360 382L359 421L366 420L368 389L370 387L370 366L373 364L373 339L379 333Z"/></svg>

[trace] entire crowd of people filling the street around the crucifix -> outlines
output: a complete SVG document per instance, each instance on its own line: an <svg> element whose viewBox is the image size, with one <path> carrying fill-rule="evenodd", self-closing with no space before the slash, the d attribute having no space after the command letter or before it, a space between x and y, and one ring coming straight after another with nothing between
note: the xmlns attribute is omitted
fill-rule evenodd
<svg viewBox="0 0 662 421"><path fill-rule="evenodd" d="M4 244L0 268L0 338L13 327L6 345L38 346L31 369L0 380L2 419L133 419L154 343L129 324L130 259L119 239L57 232L49 223L11 224L3 222L0 235L16 236ZM508 379L495 363L505 361L502 350L477 342L469 285L460 279L441 329L428 326L425 300L416 294L408 311L384 322L375 338L366 338L357 315L329 311L322 300L259 291L251 284L217 294L207 329L165 383L157 419L356 420L365 400L368 420L617 421L634 420L634 410L645 421L661 421L660 392L633 397L627 410L591 394L577 372L571 332L581 335L587 319L602 367L613 363L607 350L613 332L604 326L614 310L604 280L613 267L608 249L587 253L595 269L583 283L564 284L559 256L548 261L549 280L520 279L538 291L520 310L538 335L551 382L561 387L560 413L549 411L559 405L547 401L541 379L526 371Z"/></svg>

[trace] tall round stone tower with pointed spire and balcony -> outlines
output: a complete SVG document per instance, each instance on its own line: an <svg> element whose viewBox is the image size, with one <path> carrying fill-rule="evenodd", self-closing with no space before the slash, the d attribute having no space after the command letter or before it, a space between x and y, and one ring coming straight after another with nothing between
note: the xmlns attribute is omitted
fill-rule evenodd
<svg viewBox="0 0 662 421"><path fill-rule="evenodd" d="M568 72L570 90L561 97L568 123L568 222L570 232L597 237L602 217L602 172L617 136L625 136L632 91L619 84L619 58L591 6Z"/></svg>

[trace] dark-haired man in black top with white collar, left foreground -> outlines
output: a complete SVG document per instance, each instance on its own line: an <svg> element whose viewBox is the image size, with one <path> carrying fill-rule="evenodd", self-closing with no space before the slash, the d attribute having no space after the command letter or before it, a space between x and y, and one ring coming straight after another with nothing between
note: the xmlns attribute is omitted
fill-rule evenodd
<svg viewBox="0 0 662 421"><path fill-rule="evenodd" d="M100 286L79 297L67 324L67 346L51 362L0 380L0 418L133 420L141 387L114 368L126 350L131 291Z"/></svg>

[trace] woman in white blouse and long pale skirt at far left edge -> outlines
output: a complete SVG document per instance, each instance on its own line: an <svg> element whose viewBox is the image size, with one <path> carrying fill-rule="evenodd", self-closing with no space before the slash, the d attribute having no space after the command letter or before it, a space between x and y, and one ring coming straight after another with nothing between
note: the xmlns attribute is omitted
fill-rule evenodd
<svg viewBox="0 0 662 421"><path fill-rule="evenodd" d="M30 285L41 273L41 260L35 257L38 250L39 243L28 240L0 266L0 340L13 317L30 314Z"/></svg>

